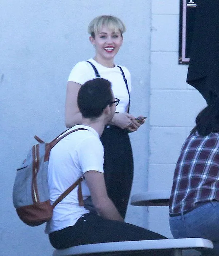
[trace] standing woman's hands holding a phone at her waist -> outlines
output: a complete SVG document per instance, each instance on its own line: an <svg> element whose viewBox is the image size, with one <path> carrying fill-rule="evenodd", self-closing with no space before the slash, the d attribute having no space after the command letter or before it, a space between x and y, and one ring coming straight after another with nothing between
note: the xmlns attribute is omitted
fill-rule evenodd
<svg viewBox="0 0 219 256"><path fill-rule="evenodd" d="M127 129L131 127L133 127L132 129L138 129L138 127L136 127L136 122L133 122L134 119L135 117L128 113L115 113L111 124L116 125L121 129Z"/></svg>

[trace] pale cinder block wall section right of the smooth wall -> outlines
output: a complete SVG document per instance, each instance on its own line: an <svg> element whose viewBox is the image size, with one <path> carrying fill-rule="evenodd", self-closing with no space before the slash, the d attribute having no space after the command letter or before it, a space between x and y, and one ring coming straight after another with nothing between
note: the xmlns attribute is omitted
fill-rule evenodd
<svg viewBox="0 0 219 256"><path fill-rule="evenodd" d="M171 189L181 146L206 105L178 65L179 0L151 1L151 70L148 190ZM149 207L148 228L172 237L169 208Z"/></svg>

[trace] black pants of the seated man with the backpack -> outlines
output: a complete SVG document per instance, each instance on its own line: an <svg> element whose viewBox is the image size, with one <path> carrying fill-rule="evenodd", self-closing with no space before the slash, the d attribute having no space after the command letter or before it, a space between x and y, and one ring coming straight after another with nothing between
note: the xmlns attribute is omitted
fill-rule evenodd
<svg viewBox="0 0 219 256"><path fill-rule="evenodd" d="M83 215L74 226L49 234L56 249L102 242L165 239L166 237L129 223L104 219L95 213ZM138 255L170 256L170 250L139 253Z"/></svg>

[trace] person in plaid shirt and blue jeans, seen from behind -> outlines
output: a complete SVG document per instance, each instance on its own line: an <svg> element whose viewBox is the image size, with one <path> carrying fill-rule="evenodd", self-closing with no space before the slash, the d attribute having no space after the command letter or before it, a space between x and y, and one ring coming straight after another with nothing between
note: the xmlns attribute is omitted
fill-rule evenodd
<svg viewBox="0 0 219 256"><path fill-rule="evenodd" d="M212 240L219 255L219 98L196 117L181 149L170 196L174 238Z"/></svg>

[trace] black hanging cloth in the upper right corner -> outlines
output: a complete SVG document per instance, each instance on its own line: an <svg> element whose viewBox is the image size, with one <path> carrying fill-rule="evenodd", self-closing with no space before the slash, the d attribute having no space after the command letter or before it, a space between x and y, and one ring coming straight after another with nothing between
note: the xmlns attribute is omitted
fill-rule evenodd
<svg viewBox="0 0 219 256"><path fill-rule="evenodd" d="M211 104L219 96L219 1L198 0L187 83Z"/></svg>

